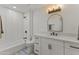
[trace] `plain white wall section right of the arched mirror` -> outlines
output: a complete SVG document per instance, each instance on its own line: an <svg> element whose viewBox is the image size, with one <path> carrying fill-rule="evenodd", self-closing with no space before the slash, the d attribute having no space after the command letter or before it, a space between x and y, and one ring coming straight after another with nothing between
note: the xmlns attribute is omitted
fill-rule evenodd
<svg viewBox="0 0 79 59"><path fill-rule="evenodd" d="M62 17L64 24L64 32L77 34L79 24L79 4L64 5Z"/></svg>

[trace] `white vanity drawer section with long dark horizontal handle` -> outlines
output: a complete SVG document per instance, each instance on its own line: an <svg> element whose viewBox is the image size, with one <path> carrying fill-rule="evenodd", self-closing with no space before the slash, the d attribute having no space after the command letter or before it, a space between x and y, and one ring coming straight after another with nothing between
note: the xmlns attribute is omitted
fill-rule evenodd
<svg viewBox="0 0 79 59"><path fill-rule="evenodd" d="M79 55L79 44L65 43L65 55Z"/></svg>

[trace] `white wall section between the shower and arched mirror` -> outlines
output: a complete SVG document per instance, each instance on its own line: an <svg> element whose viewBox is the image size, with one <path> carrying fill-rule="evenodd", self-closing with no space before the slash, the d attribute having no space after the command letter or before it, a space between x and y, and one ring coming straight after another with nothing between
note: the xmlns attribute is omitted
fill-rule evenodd
<svg viewBox="0 0 79 59"><path fill-rule="evenodd" d="M33 12L33 33L47 32L47 18L48 15L42 9Z"/></svg>

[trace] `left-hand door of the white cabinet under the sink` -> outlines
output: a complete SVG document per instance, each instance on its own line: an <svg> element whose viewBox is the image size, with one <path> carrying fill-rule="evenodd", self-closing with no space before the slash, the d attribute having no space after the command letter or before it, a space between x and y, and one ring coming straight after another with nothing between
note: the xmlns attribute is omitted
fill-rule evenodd
<svg viewBox="0 0 79 59"><path fill-rule="evenodd" d="M50 55L50 50L48 45L50 44L50 40L47 38L41 38L40 42L40 54L41 55Z"/></svg>

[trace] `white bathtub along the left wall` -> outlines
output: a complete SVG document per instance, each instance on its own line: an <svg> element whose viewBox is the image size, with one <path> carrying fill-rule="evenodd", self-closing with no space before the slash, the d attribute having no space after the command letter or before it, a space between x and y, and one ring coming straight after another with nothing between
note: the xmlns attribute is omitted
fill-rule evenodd
<svg viewBox="0 0 79 59"><path fill-rule="evenodd" d="M0 55L13 55L15 52L21 50L24 47L25 47L25 42L23 40L18 40L8 44L3 44L0 45Z"/></svg>

